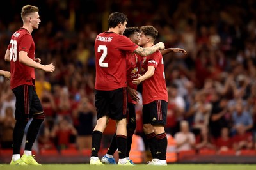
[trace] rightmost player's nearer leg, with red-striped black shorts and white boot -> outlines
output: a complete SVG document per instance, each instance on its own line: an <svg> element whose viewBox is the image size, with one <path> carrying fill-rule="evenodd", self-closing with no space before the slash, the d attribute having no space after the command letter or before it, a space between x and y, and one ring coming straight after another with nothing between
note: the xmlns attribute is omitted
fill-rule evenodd
<svg viewBox="0 0 256 170"><path fill-rule="evenodd" d="M167 150L167 137L164 131L164 126L166 125L167 116L167 102L164 100L156 100L155 108L155 121L152 121L154 132L156 134L159 161L154 165L166 165L166 150ZM157 111L157 112L156 112Z"/></svg>

